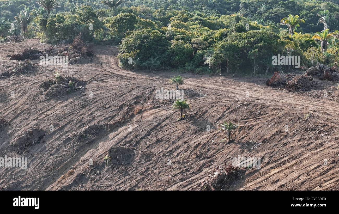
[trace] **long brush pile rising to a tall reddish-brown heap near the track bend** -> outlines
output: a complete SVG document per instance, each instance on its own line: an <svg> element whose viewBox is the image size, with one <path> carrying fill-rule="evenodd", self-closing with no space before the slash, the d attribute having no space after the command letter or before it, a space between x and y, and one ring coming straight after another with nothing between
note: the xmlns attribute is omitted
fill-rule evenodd
<svg viewBox="0 0 339 214"><path fill-rule="evenodd" d="M86 44L81 39L81 34L79 34L71 45L62 45L59 47L51 46L44 50L39 50L36 48L25 48L22 53L11 55L10 60L25 60L25 59L40 59L41 56L67 56L68 63L76 63L81 59L92 60L94 52L92 51L92 44Z"/></svg>

